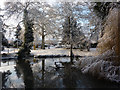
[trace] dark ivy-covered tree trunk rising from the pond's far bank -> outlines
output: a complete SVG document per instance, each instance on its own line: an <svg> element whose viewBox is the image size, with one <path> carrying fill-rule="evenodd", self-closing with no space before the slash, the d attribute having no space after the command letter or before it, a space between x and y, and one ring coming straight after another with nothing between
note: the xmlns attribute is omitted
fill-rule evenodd
<svg viewBox="0 0 120 90"><path fill-rule="evenodd" d="M30 49L32 47L32 42L34 41L33 37L33 22L28 17L28 11L25 8L24 9L24 27L25 27L25 33L24 33L24 43L22 45L22 48L18 52L18 58L26 57L30 54Z"/></svg>

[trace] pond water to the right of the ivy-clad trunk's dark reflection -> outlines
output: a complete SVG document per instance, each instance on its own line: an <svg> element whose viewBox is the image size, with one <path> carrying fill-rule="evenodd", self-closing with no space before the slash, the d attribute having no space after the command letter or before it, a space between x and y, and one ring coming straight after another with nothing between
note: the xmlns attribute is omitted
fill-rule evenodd
<svg viewBox="0 0 120 90"><path fill-rule="evenodd" d="M106 82L105 85L103 84L105 81L101 83L99 80L91 78L89 75L82 74L80 70L73 67L69 58L66 60L64 60L64 58L39 59L39 62L33 68L36 70L34 71L34 77L37 79L35 80L35 87L37 88L118 87L109 82Z"/></svg>

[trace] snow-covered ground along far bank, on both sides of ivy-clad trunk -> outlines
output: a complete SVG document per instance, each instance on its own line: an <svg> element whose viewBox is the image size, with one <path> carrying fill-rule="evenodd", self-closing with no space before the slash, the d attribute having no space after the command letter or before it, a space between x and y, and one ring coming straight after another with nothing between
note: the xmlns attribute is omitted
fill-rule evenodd
<svg viewBox="0 0 120 90"><path fill-rule="evenodd" d="M14 54L18 52L17 48L5 48L4 51L1 51L1 54L3 53L9 53ZM79 49L73 49L74 55L79 55L79 56L95 56L97 55L97 51L95 48L91 48L90 52L84 50L80 51ZM50 49L37 49L37 50L31 50L31 54L35 56L39 55L70 55L70 50L69 49L64 49L64 48L50 48Z"/></svg>

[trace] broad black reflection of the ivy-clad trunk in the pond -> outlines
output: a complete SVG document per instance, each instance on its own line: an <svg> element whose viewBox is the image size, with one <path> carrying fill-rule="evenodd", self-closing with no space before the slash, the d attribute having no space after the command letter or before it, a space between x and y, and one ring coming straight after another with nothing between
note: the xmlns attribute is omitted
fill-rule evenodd
<svg viewBox="0 0 120 90"><path fill-rule="evenodd" d="M19 60L16 64L16 66L19 67L19 70L23 74L25 88L33 88L34 87L34 78L33 78L32 69L30 67L30 63Z"/></svg>

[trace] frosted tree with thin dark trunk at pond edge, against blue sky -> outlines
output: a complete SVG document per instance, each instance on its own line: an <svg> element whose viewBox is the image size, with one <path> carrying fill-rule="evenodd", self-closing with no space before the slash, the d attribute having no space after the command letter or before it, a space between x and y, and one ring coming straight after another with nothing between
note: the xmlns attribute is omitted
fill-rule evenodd
<svg viewBox="0 0 120 90"><path fill-rule="evenodd" d="M85 15L83 11L86 10L85 3L58 3L56 8L58 9L61 22L63 24L62 38L66 44L71 45L70 55L72 56L73 44L82 44L82 41L85 40L85 36L81 31L81 19L87 19L88 13ZM81 31L81 32L80 32ZM64 35L66 33L66 35ZM82 40L83 39L83 40Z"/></svg>

